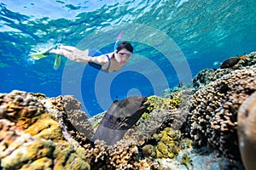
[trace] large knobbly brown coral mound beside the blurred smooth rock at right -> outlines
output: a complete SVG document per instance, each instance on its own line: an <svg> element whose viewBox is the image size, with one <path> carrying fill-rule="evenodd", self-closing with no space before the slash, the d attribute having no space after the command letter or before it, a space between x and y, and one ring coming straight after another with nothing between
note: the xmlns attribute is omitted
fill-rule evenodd
<svg viewBox="0 0 256 170"><path fill-rule="evenodd" d="M237 111L256 90L256 68L230 74L198 90L191 100L189 133L195 144L210 144L230 160L239 159Z"/></svg>

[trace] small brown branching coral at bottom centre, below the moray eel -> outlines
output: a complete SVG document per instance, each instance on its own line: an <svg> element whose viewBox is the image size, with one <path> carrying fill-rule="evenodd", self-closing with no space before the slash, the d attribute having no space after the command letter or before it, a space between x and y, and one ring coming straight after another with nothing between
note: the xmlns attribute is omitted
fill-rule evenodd
<svg viewBox="0 0 256 170"><path fill-rule="evenodd" d="M96 140L95 147L87 145L85 156L88 157L91 169L142 169L152 167L152 161L138 160L138 149L131 140L120 140L107 145Z"/></svg>

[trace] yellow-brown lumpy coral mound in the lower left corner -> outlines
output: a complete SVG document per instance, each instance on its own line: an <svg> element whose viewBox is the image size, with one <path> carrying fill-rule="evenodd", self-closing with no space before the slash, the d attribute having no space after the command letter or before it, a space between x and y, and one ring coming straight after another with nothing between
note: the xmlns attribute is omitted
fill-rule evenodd
<svg viewBox="0 0 256 170"><path fill-rule="evenodd" d="M64 138L32 94L0 94L0 169L90 169L84 148Z"/></svg>

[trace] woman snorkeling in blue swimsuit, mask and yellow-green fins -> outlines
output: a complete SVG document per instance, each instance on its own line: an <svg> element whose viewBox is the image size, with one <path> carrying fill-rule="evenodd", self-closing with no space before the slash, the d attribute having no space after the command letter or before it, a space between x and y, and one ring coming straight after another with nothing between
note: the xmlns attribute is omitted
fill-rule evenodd
<svg viewBox="0 0 256 170"><path fill-rule="evenodd" d="M59 45L56 48L51 48L45 53L31 54L32 59L41 59L49 54L57 54L55 59L54 69L58 69L61 65L61 55L71 59L73 61L90 65L97 70L104 72L119 71L119 69L125 65L133 55L133 47L130 42L120 42L115 51L94 56L89 54L89 49L80 50L72 46Z"/></svg>

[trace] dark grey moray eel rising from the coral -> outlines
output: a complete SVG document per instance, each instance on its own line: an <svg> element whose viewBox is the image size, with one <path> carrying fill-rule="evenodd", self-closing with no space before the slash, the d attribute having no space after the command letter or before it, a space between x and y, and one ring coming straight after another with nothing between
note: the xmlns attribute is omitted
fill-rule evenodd
<svg viewBox="0 0 256 170"><path fill-rule="evenodd" d="M108 145L115 144L137 123L148 105L146 97L130 96L115 100L103 116L93 138L104 140Z"/></svg>

